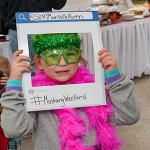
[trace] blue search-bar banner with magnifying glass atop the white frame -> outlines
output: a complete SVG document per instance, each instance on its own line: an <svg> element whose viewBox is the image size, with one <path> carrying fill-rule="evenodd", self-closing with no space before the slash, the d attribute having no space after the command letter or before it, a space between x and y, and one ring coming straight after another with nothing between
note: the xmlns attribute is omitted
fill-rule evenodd
<svg viewBox="0 0 150 150"><path fill-rule="evenodd" d="M19 12L16 23L98 21L97 11Z"/></svg>

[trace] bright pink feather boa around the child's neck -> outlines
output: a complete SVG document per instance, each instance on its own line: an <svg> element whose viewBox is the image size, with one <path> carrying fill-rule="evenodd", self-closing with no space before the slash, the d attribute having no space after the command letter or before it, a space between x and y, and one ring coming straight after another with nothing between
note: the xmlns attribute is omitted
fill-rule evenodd
<svg viewBox="0 0 150 150"><path fill-rule="evenodd" d="M85 67L80 67L75 76L65 84L91 83L94 77ZM33 86L58 85L60 83L49 79L42 71L37 71L32 78ZM64 84L64 83L63 83ZM112 104L105 106L81 108L89 119L89 129L96 130L96 143L100 145L98 150L119 150L122 142L117 139L116 130L110 118L112 116ZM60 119L59 136L61 150L94 150L95 148L85 146L82 139L86 136L86 126L82 117L76 109L59 109L54 110Z"/></svg>

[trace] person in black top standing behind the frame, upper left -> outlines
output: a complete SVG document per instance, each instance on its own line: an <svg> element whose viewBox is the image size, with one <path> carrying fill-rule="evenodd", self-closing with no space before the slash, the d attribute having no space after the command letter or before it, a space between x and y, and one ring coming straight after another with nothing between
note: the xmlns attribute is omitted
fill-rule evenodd
<svg viewBox="0 0 150 150"><path fill-rule="evenodd" d="M1 0L0 18L3 20L5 28L8 30L9 45L12 52L18 49L16 33L16 12L46 12L52 9L61 9L67 0ZM31 38L29 38L29 47L32 48ZM33 56L33 53L30 53Z"/></svg>

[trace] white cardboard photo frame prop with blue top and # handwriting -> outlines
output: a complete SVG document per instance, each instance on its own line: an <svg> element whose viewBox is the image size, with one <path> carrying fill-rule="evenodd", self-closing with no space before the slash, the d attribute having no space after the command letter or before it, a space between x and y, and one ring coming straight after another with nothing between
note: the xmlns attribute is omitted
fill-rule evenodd
<svg viewBox="0 0 150 150"><path fill-rule="evenodd" d="M16 13L18 47L29 56L28 35L50 33L91 33L95 82L32 87L31 73L24 73L23 93L27 111L105 105L103 69L98 51L103 47L96 11L20 12Z"/></svg>

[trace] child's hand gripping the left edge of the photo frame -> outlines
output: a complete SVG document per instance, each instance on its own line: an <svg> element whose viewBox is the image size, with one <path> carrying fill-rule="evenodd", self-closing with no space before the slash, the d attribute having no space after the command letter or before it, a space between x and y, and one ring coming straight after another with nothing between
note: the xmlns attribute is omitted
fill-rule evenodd
<svg viewBox="0 0 150 150"><path fill-rule="evenodd" d="M10 80L22 80L23 72L31 72L32 67L29 63L30 58L27 56L22 56L23 50L17 50L12 57L11 70L10 70Z"/></svg>

